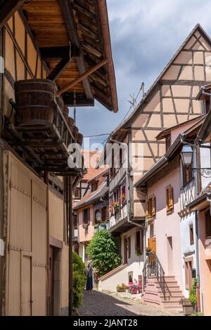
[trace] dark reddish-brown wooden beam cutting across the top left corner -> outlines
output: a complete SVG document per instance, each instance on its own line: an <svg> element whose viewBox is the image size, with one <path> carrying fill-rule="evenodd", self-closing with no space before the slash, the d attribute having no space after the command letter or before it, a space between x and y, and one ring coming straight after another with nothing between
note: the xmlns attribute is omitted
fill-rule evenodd
<svg viewBox="0 0 211 330"><path fill-rule="evenodd" d="M13 16L15 11L23 5L25 0L6 0L0 8L0 28Z"/></svg>

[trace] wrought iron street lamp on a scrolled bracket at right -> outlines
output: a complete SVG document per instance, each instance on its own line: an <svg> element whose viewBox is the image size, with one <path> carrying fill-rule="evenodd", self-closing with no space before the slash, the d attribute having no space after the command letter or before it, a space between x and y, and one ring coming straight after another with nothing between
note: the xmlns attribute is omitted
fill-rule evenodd
<svg viewBox="0 0 211 330"><path fill-rule="evenodd" d="M211 177L210 167L203 167L203 168L191 167L191 164L193 164L193 148L191 147L191 145L186 144L182 147L181 159L186 169L191 169L193 173L197 172L200 174L200 176L203 176L204 178Z"/></svg>

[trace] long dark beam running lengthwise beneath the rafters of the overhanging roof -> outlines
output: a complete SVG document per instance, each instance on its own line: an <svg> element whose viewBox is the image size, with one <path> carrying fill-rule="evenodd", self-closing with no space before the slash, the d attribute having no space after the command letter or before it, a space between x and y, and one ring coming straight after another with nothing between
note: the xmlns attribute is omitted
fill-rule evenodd
<svg viewBox="0 0 211 330"><path fill-rule="evenodd" d="M68 31L68 37L70 39L70 42L73 48L79 50L79 56L76 57L79 74L84 74L84 72L87 70L87 67L85 65L84 55L82 53L82 47L81 44L79 43L77 28L75 26L74 14L72 11L72 4L70 4L70 1L67 0L58 0L58 2L60 4L60 8L63 13L63 18L65 20L65 25ZM75 57L75 51L73 51L72 56ZM91 84L89 82L89 79L85 78L82 81L82 84L84 87L84 91L87 95L87 98L91 100L93 98L93 93L91 91Z"/></svg>

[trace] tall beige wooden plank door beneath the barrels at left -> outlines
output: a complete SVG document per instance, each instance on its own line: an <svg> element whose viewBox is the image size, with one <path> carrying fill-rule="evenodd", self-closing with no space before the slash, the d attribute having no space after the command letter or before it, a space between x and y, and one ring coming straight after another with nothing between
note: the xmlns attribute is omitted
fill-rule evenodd
<svg viewBox="0 0 211 330"><path fill-rule="evenodd" d="M7 315L46 315L46 185L11 153L8 167Z"/></svg>

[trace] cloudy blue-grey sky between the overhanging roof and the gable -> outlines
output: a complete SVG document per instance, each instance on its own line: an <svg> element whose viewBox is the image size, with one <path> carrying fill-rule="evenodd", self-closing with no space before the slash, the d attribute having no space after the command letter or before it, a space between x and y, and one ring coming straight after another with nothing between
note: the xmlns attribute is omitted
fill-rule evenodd
<svg viewBox="0 0 211 330"><path fill-rule="evenodd" d="M129 95L138 93L142 81L145 91L151 86L198 22L211 35L210 0L107 0L107 4L119 112L109 112L97 102L77 108L77 126L84 136L113 131L129 110ZM91 138L91 143L105 138Z"/></svg>

